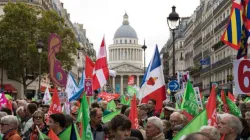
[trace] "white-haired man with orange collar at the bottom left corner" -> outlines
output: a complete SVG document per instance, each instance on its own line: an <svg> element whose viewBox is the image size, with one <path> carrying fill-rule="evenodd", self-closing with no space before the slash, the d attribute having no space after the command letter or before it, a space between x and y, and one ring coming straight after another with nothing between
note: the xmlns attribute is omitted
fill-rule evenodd
<svg viewBox="0 0 250 140"><path fill-rule="evenodd" d="M7 115L1 118L0 129L3 134L3 140L21 140L18 134L18 119L16 116Z"/></svg>

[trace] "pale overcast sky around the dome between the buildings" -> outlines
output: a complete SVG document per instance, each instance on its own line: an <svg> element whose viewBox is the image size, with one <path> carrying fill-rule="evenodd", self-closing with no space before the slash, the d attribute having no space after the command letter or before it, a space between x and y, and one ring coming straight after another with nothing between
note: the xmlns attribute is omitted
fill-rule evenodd
<svg viewBox="0 0 250 140"><path fill-rule="evenodd" d="M155 45L159 51L169 38L166 17L176 6L180 17L191 16L200 0L61 0L70 13L71 21L83 24L87 37L98 52L105 35L106 47L112 44L115 31L122 25L125 11L130 25L137 32L139 44L145 38L146 63L151 59Z"/></svg>

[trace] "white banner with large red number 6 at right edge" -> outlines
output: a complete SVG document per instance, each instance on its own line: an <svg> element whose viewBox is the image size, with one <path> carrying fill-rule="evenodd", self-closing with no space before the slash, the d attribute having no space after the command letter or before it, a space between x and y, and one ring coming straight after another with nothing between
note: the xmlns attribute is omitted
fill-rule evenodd
<svg viewBox="0 0 250 140"><path fill-rule="evenodd" d="M250 60L234 60L235 94L250 93Z"/></svg>

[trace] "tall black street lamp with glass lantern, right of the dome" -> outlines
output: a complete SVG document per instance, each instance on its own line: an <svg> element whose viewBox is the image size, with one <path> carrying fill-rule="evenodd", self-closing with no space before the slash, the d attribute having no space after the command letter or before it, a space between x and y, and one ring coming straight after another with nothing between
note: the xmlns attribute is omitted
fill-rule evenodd
<svg viewBox="0 0 250 140"><path fill-rule="evenodd" d="M179 14L175 12L175 6L172 7L172 13L167 17L167 23L169 29L172 31L173 36L173 78L175 77L175 30L179 28L180 17Z"/></svg>

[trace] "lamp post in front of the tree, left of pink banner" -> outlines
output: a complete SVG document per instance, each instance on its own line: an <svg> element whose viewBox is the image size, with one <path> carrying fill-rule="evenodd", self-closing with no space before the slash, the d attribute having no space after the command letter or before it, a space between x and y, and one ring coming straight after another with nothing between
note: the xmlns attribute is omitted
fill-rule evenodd
<svg viewBox="0 0 250 140"><path fill-rule="evenodd" d="M44 47L44 44L41 40L38 41L37 43L37 51L39 53L39 78L38 78L38 86L39 86L39 89L38 89L38 96L36 96L38 99L41 98L41 63L42 63L42 59L41 59L41 53L43 51L43 47Z"/></svg>

